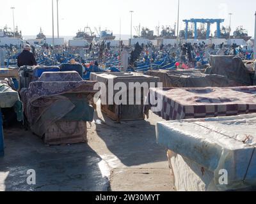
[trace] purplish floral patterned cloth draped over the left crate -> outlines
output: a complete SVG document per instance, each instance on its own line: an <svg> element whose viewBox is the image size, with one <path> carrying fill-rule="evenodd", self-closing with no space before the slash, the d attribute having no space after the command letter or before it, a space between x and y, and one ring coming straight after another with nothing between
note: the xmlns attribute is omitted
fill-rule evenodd
<svg viewBox="0 0 256 204"><path fill-rule="evenodd" d="M79 97L79 94L93 95L97 92L93 90L97 82L84 81L77 75L73 71L45 72L38 81L31 82L28 89L20 91L24 112L31 128L40 130L37 135L44 135L47 131L46 124L60 120L74 108L74 104L64 94L72 93Z"/></svg>

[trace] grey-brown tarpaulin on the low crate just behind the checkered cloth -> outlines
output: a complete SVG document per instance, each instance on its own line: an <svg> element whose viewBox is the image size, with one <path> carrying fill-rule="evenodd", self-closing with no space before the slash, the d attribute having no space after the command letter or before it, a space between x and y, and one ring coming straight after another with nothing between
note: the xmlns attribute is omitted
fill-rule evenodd
<svg viewBox="0 0 256 204"><path fill-rule="evenodd" d="M159 77L163 87L227 87L227 77L207 75L198 70L148 71L147 75Z"/></svg>

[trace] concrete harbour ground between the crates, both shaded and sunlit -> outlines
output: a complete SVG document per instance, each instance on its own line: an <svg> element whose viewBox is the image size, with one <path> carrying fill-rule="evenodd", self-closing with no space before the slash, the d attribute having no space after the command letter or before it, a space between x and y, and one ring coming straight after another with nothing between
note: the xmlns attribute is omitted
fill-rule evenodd
<svg viewBox="0 0 256 204"><path fill-rule="evenodd" d="M4 129L0 191L174 191L166 150L150 118L116 123L97 107L88 143L45 145L22 127ZM27 171L36 172L28 185Z"/></svg>

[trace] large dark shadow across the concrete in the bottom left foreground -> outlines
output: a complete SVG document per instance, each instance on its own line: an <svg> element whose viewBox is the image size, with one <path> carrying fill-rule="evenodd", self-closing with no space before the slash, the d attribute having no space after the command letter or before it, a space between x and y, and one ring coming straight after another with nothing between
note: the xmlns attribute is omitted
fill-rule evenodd
<svg viewBox="0 0 256 204"><path fill-rule="evenodd" d="M24 129L4 131L5 156L0 157L0 190L5 191L107 191L102 159L85 143L47 146ZM26 182L36 171L36 185ZM5 178L3 178L5 177ZM2 187L2 189L1 189Z"/></svg>

